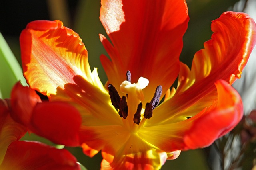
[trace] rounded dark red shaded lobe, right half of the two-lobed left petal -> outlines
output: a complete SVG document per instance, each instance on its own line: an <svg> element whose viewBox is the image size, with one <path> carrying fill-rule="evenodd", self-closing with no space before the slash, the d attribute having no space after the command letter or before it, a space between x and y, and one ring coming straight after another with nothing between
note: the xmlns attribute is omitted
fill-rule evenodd
<svg viewBox="0 0 256 170"><path fill-rule="evenodd" d="M78 146L80 113L64 102L38 103L31 118L31 130L50 141Z"/></svg>

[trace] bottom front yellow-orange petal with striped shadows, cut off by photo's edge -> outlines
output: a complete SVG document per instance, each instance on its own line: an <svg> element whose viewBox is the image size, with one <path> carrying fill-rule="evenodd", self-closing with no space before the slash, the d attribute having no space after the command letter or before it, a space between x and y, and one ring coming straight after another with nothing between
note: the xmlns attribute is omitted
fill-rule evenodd
<svg viewBox="0 0 256 170"><path fill-rule="evenodd" d="M108 158L109 155L106 155L108 153L105 152L106 150L108 149L102 150L102 156L104 158L101 164L102 170L155 170L160 169L168 158L166 152L152 148L137 135L131 135L123 143L123 147L112 156L112 159Z"/></svg>

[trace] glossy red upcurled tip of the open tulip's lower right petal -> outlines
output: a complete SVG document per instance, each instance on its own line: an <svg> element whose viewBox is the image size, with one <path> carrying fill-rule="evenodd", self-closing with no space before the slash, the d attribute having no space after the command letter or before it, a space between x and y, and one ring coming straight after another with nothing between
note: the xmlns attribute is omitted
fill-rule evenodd
<svg viewBox="0 0 256 170"><path fill-rule="evenodd" d="M184 136L188 149L207 147L230 132L243 117L243 104L238 92L224 80L216 82L218 103L195 119Z"/></svg>

